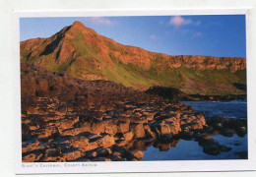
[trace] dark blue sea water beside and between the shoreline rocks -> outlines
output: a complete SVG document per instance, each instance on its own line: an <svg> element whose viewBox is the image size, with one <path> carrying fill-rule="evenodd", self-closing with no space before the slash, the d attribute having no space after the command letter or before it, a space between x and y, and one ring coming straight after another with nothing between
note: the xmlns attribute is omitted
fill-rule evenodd
<svg viewBox="0 0 256 177"><path fill-rule="evenodd" d="M225 116L226 118L247 119L246 100L238 101L182 101L190 105L196 111L204 112L206 116ZM224 137L220 134L213 136L220 145L231 148L228 152L218 155L210 155L203 152L198 142L193 140L178 140L176 144L168 148L155 148L154 146L144 150L142 160L207 160L207 159L246 159L248 151L247 135L238 137Z"/></svg>

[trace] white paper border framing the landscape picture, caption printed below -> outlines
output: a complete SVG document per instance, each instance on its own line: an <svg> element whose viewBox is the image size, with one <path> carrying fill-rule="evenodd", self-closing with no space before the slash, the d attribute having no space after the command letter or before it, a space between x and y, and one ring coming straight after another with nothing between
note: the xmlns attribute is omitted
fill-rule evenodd
<svg viewBox="0 0 256 177"><path fill-rule="evenodd" d="M20 98L20 26L19 18L24 17L96 17L96 16L163 16L163 15L228 15L246 14L246 48L247 48L247 95L248 95L248 160L164 160L164 161L124 161L124 162L53 162L53 163L22 163L21 141L21 98ZM253 116L256 110L256 95L253 89L256 83L253 60L253 49L250 36L252 23L250 9L175 9L175 10L143 10L143 11L14 11L14 131L15 131L15 171L16 174L36 173L113 173L113 172L181 172L181 171L231 171L231 170L256 170L256 119ZM254 149L254 150L253 150ZM22 167L23 164L32 164L32 167ZM41 167L41 165L58 164L59 167ZM96 166L65 167L66 164L91 164ZM37 167L36 167L37 166Z"/></svg>

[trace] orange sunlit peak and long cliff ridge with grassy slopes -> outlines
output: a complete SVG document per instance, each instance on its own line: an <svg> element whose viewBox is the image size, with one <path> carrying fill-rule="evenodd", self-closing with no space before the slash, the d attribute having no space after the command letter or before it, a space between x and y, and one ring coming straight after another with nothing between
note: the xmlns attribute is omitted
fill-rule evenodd
<svg viewBox="0 0 256 177"><path fill-rule="evenodd" d="M237 76L237 72L246 69L244 58L169 56L122 45L80 22L61 29L49 38L22 41L21 62L83 80L110 80L135 89L149 89L157 85L184 91L195 89L197 84L204 85L203 78L196 74L198 71L227 71L234 83L244 84L244 77ZM193 76L189 77L184 70L193 71ZM196 81L196 77L200 81ZM172 80L176 80L176 84ZM211 88L218 89L217 83L210 82ZM232 93L241 93L231 86L227 88Z"/></svg>

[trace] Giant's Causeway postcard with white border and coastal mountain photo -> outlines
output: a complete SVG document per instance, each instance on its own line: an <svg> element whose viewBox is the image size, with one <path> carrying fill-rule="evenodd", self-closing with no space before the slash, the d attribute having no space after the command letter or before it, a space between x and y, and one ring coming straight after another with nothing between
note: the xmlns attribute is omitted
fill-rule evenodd
<svg viewBox="0 0 256 177"><path fill-rule="evenodd" d="M246 11L16 12L16 172L255 169Z"/></svg>

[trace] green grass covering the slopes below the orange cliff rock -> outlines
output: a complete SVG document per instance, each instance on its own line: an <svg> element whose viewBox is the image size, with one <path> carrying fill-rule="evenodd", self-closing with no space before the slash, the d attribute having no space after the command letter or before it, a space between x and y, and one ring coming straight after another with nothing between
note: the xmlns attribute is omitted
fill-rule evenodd
<svg viewBox="0 0 256 177"><path fill-rule="evenodd" d="M115 83L122 84L134 89L148 89L152 86L170 87L181 89L187 93L201 94L243 94L245 91L236 89L233 84L246 84L246 70L232 73L228 70L196 70L190 68L168 68L160 55L152 62L149 70L144 70L131 63L124 64L118 58L110 55L113 65L109 65L98 56L100 48L96 43L88 43L83 32L77 32L71 41L79 53L75 60L69 58L65 63L56 62L52 54L39 56L43 52L48 42L44 42L36 48L38 55L30 57L28 48L21 50L23 60L21 62L40 62L41 66L50 71L58 73L68 73L74 78L90 80L88 76L94 78L107 78ZM111 41L106 42L110 51L126 52L126 55L133 55L123 51L118 45ZM95 76L95 77L94 77Z"/></svg>

